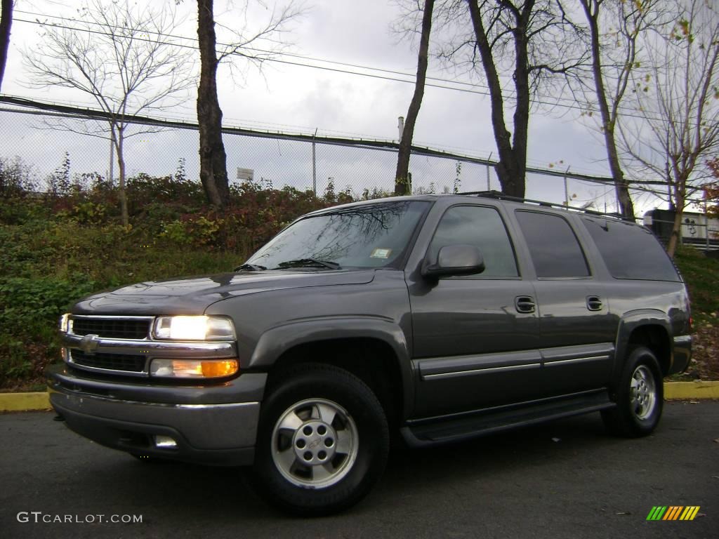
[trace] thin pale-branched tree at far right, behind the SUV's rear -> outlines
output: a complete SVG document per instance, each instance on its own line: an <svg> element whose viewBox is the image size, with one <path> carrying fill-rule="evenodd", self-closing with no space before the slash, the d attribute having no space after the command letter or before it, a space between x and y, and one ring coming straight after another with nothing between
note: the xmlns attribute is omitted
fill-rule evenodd
<svg viewBox="0 0 719 539"><path fill-rule="evenodd" d="M651 75L633 79L641 121L620 124L638 172L667 182L672 257L687 198L710 180L706 162L719 151L719 14L705 0L680 0L674 13L671 31L648 41Z"/></svg>

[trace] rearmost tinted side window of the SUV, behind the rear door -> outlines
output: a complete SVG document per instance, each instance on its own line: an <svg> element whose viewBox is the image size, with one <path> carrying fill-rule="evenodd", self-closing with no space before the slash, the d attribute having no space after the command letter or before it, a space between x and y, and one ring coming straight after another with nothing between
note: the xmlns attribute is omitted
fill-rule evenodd
<svg viewBox="0 0 719 539"><path fill-rule="evenodd" d="M616 279L680 280L664 247L649 230L610 219L582 217L582 221Z"/></svg>

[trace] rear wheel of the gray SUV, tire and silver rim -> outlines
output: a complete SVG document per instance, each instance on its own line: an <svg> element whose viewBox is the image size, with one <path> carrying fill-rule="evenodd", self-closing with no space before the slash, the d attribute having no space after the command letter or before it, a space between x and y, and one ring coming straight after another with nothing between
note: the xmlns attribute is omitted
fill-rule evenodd
<svg viewBox="0 0 719 539"><path fill-rule="evenodd" d="M608 430L618 436L648 436L661 419L664 384L654 352L640 346L633 349L616 387L617 406L603 410Z"/></svg>

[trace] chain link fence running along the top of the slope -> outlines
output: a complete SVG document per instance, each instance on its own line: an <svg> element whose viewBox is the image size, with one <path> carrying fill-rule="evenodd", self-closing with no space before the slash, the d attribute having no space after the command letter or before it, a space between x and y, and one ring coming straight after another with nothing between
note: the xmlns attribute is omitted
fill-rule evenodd
<svg viewBox="0 0 719 539"><path fill-rule="evenodd" d="M198 178L197 126L183 121L133 117L124 140L127 178L175 174ZM22 166L37 190L69 161L73 180L117 178L108 121L101 111L0 96L0 159ZM354 197L391 193L398 144L388 140L302 133L224 129L231 181L298 190L345 191ZM494 162L431 148L413 148L414 193L499 190ZM65 165L66 166L66 165ZM526 196L572 206L615 211L610 178L560 170L528 169ZM591 203L591 204L590 204Z"/></svg>

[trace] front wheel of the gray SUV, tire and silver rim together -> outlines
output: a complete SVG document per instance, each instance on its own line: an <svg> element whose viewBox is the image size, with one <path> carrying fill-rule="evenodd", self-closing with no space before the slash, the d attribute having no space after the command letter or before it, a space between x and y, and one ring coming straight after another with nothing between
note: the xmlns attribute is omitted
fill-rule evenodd
<svg viewBox="0 0 719 539"><path fill-rule="evenodd" d="M385 469L389 432L375 394L347 371L303 364L273 382L262 403L255 487L301 516L359 502Z"/></svg>

